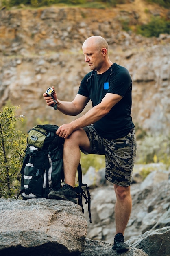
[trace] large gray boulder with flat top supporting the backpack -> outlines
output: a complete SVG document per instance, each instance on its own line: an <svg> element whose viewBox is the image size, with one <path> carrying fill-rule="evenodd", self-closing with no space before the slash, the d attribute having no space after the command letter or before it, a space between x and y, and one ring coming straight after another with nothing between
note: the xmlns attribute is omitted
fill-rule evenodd
<svg viewBox="0 0 170 256"><path fill-rule="evenodd" d="M52 199L0 199L1 256L78 255L87 221L81 207Z"/></svg>

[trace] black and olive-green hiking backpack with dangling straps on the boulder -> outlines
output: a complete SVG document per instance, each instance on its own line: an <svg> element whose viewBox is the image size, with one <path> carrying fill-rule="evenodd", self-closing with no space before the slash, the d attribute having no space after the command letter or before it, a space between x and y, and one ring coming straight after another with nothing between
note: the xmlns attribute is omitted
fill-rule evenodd
<svg viewBox="0 0 170 256"><path fill-rule="evenodd" d="M27 147L21 168L22 199L48 198L51 190L57 191L64 182L63 144L64 138L56 134L59 126L36 125L28 131ZM81 164L78 165L78 186L75 187L78 204L83 209L82 196L88 203L90 213L90 193L87 184L82 184ZM82 186L87 190L87 196ZM20 195L19 194L19 195Z"/></svg>

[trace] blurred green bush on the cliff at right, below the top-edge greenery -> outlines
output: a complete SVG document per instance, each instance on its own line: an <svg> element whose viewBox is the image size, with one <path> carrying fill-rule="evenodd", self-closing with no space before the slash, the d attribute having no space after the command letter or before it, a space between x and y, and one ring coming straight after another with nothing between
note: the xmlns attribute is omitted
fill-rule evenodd
<svg viewBox="0 0 170 256"><path fill-rule="evenodd" d="M153 16L148 24L137 26L137 34L145 37L158 37L161 33L170 34L170 21Z"/></svg>

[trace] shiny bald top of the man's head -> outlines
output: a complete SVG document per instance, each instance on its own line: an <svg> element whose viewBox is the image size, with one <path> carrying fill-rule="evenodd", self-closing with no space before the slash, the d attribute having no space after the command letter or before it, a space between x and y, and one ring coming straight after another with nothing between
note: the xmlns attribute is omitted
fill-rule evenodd
<svg viewBox="0 0 170 256"><path fill-rule="evenodd" d="M91 36L85 40L83 47L94 47L97 50L106 48L108 50L108 43L102 36Z"/></svg>

